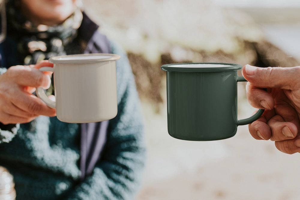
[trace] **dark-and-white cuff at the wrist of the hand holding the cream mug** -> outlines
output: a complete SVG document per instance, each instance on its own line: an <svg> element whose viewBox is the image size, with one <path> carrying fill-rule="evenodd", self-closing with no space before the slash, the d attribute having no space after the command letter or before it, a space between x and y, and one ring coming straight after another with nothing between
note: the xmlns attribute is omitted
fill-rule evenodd
<svg viewBox="0 0 300 200"><path fill-rule="evenodd" d="M0 76L5 73L6 70L6 68L0 68ZM10 142L16 135L19 127L19 124L4 125L0 122L0 144L3 142Z"/></svg>

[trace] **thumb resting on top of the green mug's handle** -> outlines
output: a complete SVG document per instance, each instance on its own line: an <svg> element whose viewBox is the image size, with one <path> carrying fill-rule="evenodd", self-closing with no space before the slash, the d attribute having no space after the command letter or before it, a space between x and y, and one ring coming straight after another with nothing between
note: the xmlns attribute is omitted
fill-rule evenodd
<svg viewBox="0 0 300 200"><path fill-rule="evenodd" d="M259 88L298 89L300 67L254 67L245 65L242 69L244 78Z"/></svg>

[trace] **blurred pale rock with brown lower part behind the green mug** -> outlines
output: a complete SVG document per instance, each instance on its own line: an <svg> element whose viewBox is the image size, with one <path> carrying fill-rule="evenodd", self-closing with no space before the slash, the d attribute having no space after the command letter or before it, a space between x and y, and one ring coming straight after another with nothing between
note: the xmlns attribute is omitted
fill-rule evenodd
<svg viewBox="0 0 300 200"><path fill-rule="evenodd" d="M142 99L162 103L165 73L178 62L292 67L299 62L267 42L247 14L206 0L85 0L101 31L128 52ZM96 9L95 9L96 8ZM159 106L156 106L159 111Z"/></svg>

